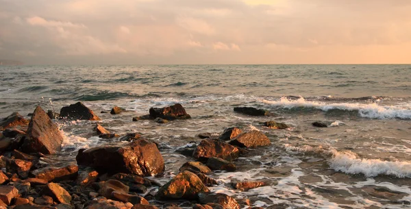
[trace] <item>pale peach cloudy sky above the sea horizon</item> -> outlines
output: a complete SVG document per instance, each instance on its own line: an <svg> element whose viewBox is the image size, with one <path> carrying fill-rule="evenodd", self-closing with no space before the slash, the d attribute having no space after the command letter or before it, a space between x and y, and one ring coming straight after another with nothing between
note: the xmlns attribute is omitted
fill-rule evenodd
<svg viewBox="0 0 411 209"><path fill-rule="evenodd" d="M0 0L25 64L410 64L409 0Z"/></svg>

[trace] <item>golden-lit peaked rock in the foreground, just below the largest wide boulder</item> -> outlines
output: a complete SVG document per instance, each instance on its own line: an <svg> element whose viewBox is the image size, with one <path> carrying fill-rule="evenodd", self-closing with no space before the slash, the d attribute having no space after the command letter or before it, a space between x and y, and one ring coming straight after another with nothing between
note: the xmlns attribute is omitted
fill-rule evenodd
<svg viewBox="0 0 411 209"><path fill-rule="evenodd" d="M173 179L158 189L157 199L197 199L197 194L210 190L190 171L178 173Z"/></svg>

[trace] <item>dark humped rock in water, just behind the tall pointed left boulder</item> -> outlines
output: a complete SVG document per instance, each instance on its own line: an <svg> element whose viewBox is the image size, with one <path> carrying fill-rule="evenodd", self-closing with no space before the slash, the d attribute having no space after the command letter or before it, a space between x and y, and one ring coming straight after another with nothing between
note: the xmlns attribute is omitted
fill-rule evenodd
<svg viewBox="0 0 411 209"><path fill-rule="evenodd" d="M80 101L75 104L71 104L70 106L63 107L60 110L60 116L71 120L100 121L99 116L94 114L92 110L88 109Z"/></svg>

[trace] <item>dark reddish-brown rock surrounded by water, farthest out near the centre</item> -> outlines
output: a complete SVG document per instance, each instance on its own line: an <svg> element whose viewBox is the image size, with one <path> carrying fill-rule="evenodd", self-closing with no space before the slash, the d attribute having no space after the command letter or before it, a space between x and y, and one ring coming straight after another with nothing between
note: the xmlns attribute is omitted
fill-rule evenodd
<svg viewBox="0 0 411 209"><path fill-rule="evenodd" d="M155 118L162 118L169 121L173 121L176 119L190 119L190 114L187 114L186 110L183 106L179 103L176 103L173 106L165 107L165 108L150 108L150 117Z"/></svg>

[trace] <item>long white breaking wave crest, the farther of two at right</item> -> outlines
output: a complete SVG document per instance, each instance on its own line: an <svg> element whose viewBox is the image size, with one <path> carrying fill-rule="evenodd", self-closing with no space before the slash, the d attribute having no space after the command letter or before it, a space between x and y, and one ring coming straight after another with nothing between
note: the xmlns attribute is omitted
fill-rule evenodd
<svg viewBox="0 0 411 209"><path fill-rule="evenodd" d="M279 108L314 108L323 110L347 110L358 111L358 114L364 118L370 119L411 119L411 110L399 106L379 106L377 103L324 103L319 101L306 101L303 97L297 100L290 100L282 97L279 101L269 101L262 99L263 103Z"/></svg>

